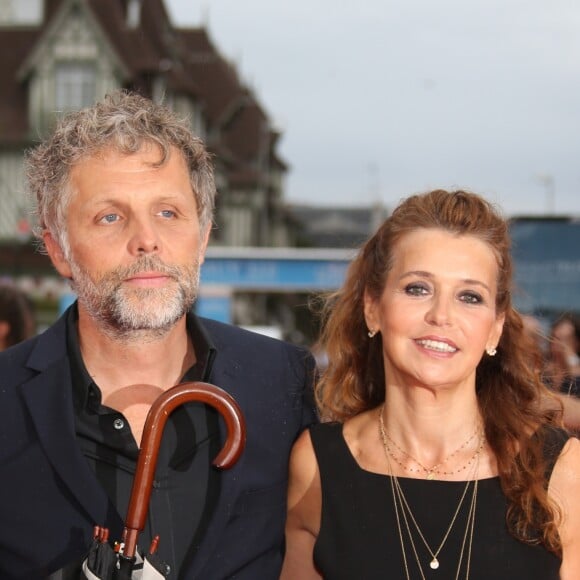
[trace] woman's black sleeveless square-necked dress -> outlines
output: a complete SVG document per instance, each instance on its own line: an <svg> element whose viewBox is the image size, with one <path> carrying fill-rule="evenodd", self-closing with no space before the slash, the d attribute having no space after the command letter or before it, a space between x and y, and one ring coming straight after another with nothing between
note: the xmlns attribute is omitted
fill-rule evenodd
<svg viewBox="0 0 580 580"><path fill-rule="evenodd" d="M314 561L326 580L406 580L401 541L393 507L391 478L361 469L339 423L310 428L322 484L321 528ZM553 464L567 440L556 431L550 442ZM441 543L465 482L399 477L413 515L432 550ZM455 580L471 503L471 486L455 524L438 555L439 568L415 533L415 546L426 580ZM478 482L470 580L558 580L560 559L541 546L513 538L505 523L507 502L499 477ZM400 519L401 516L400 516ZM405 536L405 524L401 522ZM412 526L412 524L411 524ZM421 573L405 538L407 566L413 580ZM467 548L459 578L465 576Z"/></svg>

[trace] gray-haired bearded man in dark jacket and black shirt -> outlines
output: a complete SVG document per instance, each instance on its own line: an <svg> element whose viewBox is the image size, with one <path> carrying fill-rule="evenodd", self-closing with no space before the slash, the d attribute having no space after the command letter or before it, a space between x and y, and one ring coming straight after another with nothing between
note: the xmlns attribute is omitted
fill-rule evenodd
<svg viewBox="0 0 580 580"><path fill-rule="evenodd" d="M0 577L73 575L94 525L120 539L152 402L200 380L238 402L245 451L214 470L222 420L178 408L139 544L160 536L171 578L278 578L288 456L315 421L313 360L191 314L215 194L202 143L121 92L64 117L28 176L39 236L78 301L0 356Z"/></svg>

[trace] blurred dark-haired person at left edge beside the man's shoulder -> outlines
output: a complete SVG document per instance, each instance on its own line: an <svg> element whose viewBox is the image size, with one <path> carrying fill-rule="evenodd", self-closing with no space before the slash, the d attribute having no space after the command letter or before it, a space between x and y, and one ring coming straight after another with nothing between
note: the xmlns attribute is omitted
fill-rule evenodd
<svg viewBox="0 0 580 580"><path fill-rule="evenodd" d="M36 333L34 304L12 284L0 284L0 351Z"/></svg>

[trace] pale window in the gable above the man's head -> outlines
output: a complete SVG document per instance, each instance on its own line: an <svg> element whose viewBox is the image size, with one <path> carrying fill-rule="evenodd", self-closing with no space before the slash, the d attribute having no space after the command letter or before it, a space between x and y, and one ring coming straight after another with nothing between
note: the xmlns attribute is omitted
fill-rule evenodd
<svg viewBox="0 0 580 580"><path fill-rule="evenodd" d="M62 62L56 66L56 110L89 107L96 98L96 68L89 62Z"/></svg>

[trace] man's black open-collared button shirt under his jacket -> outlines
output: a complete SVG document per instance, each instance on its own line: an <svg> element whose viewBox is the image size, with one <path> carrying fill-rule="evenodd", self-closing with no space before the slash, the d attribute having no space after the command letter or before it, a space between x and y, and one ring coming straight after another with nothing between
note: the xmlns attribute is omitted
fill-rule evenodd
<svg viewBox="0 0 580 580"><path fill-rule="evenodd" d="M101 403L101 391L90 377L79 346L78 310L67 318L79 446L97 479L124 520L139 449L122 413ZM208 381L215 348L193 314L187 317L196 363L183 381ZM211 467L220 449L217 412L203 403L188 403L167 419L158 456L145 530L139 547L146 551L155 535L157 553L171 569L171 577L194 556L211 517L219 490L219 476ZM96 525L102 522L95 522ZM120 540L120 538L112 538Z"/></svg>

